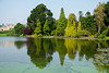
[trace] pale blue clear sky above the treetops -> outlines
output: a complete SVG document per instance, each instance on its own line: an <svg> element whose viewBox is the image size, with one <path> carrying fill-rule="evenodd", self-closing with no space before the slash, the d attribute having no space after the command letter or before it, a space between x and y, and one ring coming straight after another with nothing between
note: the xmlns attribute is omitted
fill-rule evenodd
<svg viewBox="0 0 109 73"><path fill-rule="evenodd" d="M85 14L89 11L92 14L99 2L107 3L108 0L0 0L0 25L27 23L31 11L40 3L44 3L56 20L60 16L61 8L64 9L65 17L74 13L78 19L78 11Z"/></svg>

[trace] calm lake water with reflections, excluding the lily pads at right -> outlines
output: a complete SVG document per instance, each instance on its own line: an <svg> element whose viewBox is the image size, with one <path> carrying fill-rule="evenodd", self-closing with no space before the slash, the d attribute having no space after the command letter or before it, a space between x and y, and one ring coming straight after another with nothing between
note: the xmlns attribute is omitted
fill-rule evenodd
<svg viewBox="0 0 109 73"><path fill-rule="evenodd" d="M0 37L0 73L109 73L109 66L94 63L98 47L109 48L108 44Z"/></svg>

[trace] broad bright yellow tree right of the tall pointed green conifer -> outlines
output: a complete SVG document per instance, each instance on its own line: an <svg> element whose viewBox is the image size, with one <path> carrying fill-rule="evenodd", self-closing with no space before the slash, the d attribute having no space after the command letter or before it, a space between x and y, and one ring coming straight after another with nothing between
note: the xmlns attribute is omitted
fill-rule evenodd
<svg viewBox="0 0 109 73"><path fill-rule="evenodd" d="M73 13L69 15L68 25L65 28L65 36L66 37L75 37L76 36L76 17Z"/></svg>

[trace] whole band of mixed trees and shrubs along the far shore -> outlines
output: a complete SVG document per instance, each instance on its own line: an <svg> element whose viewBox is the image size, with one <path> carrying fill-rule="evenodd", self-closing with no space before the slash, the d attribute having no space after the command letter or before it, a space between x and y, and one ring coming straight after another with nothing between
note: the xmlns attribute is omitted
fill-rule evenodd
<svg viewBox="0 0 109 73"><path fill-rule="evenodd" d="M108 38L109 36L109 1L99 2L93 15L87 11L84 16L83 12L78 11L78 21L74 13L66 19L63 8L59 20L53 19L52 15L45 4L38 4L31 11L27 25L17 23L13 29L0 32L0 36L69 38Z"/></svg>

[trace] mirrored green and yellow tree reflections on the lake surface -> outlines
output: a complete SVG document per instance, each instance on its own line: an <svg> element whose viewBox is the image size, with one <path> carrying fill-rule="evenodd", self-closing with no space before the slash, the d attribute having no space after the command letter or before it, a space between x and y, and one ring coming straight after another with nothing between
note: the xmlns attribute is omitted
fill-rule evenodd
<svg viewBox="0 0 109 73"><path fill-rule="evenodd" d="M107 59L107 64L98 65L100 62L96 62L96 60L99 59L97 57L95 58L96 54L104 54L98 51L99 48L109 48L109 41L107 40L28 38L27 41L15 41L14 44L17 49L26 45L31 61L39 69L46 68L52 61L55 52L59 53L61 66L64 65L66 54L70 60L75 60L76 53L78 53L78 61L82 61L85 57L87 61L93 60L98 72L106 71L109 73L109 59ZM105 53L109 54L109 51Z"/></svg>

